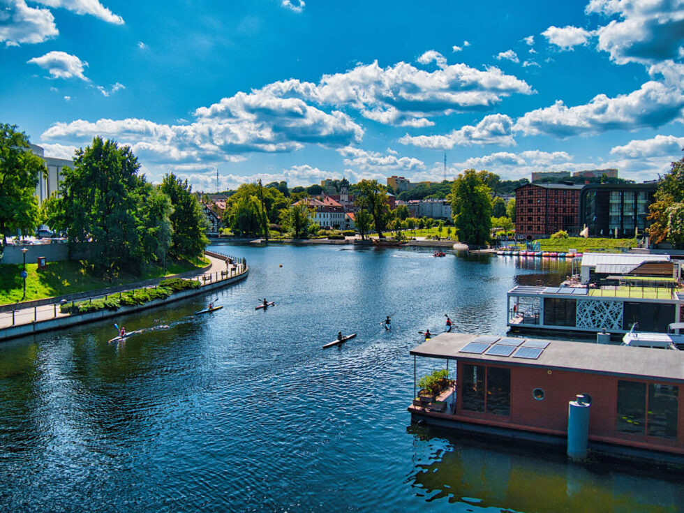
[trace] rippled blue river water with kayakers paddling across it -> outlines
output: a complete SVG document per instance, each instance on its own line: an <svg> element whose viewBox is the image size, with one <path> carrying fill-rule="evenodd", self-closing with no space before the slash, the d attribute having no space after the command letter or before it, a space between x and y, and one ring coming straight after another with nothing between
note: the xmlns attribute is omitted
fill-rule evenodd
<svg viewBox="0 0 684 513"><path fill-rule="evenodd" d="M214 246L246 281L0 345L2 511L679 511L680 477L411 426L426 328L505 332L505 292L569 264ZM279 267L282 265L282 267ZM193 318L211 299L223 310ZM255 311L258 299L277 306ZM380 321L394 313L393 329ZM357 338L322 350L337 332ZM422 362L419 372L434 362Z"/></svg>

